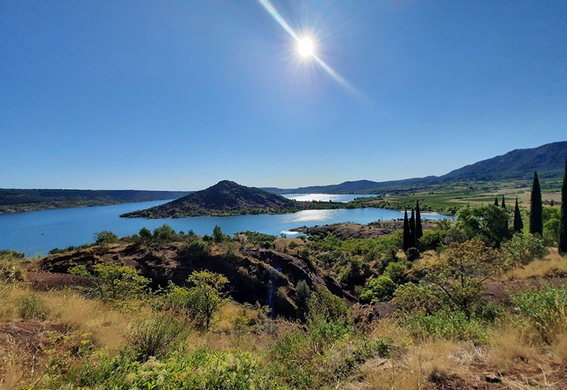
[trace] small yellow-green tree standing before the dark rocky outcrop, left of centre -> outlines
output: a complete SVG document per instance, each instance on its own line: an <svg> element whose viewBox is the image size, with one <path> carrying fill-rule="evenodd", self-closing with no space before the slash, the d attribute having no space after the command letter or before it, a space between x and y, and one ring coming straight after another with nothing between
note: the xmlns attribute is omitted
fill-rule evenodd
<svg viewBox="0 0 567 390"><path fill-rule="evenodd" d="M205 270L193 271L187 282L192 285L187 290L189 314L197 325L204 325L208 330L213 316L229 301L222 292L228 279L223 274Z"/></svg>

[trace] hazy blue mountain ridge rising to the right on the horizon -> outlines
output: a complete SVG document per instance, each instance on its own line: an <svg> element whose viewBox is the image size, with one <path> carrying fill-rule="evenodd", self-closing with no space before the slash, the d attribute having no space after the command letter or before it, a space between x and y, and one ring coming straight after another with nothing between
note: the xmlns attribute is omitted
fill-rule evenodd
<svg viewBox="0 0 567 390"><path fill-rule="evenodd" d="M559 178L563 174L567 157L567 141L548 143L530 149L517 149L504 155L489 158L454 169L442 176L417 177L413 179L372 182L358 180L328 186L308 186L296 189L274 189L274 194L371 194L381 189L420 186L456 181L491 181L503 179L531 179L534 171L542 179Z"/></svg>

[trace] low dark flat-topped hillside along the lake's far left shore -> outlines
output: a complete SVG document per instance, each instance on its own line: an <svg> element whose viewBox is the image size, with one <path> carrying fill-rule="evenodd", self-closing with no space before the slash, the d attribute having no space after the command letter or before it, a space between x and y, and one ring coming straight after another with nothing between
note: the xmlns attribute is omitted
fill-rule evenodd
<svg viewBox="0 0 567 390"><path fill-rule="evenodd" d="M189 191L0 189L0 213L176 199Z"/></svg>

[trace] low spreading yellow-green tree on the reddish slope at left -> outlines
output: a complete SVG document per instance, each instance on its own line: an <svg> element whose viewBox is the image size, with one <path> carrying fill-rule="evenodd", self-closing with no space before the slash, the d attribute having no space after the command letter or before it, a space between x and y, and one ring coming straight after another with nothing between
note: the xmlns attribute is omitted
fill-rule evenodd
<svg viewBox="0 0 567 390"><path fill-rule="evenodd" d="M84 265L77 265L69 268L69 274L84 277L91 292L101 299L132 298L152 282L138 275L135 269L115 262L94 264L92 273Z"/></svg>

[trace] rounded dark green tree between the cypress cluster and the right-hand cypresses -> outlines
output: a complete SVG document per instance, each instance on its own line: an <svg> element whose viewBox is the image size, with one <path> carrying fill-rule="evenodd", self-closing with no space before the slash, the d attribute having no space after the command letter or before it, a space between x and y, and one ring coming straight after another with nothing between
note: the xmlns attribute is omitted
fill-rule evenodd
<svg viewBox="0 0 567 390"><path fill-rule="evenodd" d="M510 237L507 211L491 205L464 206L457 211L455 226L469 238L483 240L490 246L498 247Z"/></svg>

